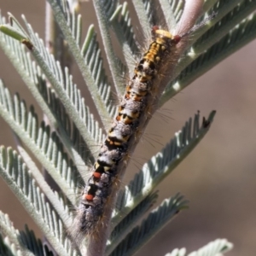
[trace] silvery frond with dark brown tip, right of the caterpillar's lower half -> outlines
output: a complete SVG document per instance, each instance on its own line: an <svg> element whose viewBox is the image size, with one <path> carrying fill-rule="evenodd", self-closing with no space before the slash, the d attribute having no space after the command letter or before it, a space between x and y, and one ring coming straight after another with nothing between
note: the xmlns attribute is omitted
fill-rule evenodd
<svg viewBox="0 0 256 256"><path fill-rule="evenodd" d="M166 147L144 164L131 183L120 191L116 211L113 212L113 224L118 224L145 196L152 193L156 186L200 143L209 131L214 115L215 111L212 111L208 119L203 119L200 125L200 114L195 114L194 122L190 118Z"/></svg>

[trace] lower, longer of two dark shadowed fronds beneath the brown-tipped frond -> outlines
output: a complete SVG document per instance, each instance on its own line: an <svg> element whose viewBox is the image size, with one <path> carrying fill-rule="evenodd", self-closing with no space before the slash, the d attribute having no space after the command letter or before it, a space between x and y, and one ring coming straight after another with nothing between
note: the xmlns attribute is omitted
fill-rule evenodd
<svg viewBox="0 0 256 256"><path fill-rule="evenodd" d="M184 201L183 195L175 195L166 199L160 207L154 209L143 223L131 231L121 241L110 256L132 255L143 247L155 234L164 227L178 212L187 207L188 201Z"/></svg>

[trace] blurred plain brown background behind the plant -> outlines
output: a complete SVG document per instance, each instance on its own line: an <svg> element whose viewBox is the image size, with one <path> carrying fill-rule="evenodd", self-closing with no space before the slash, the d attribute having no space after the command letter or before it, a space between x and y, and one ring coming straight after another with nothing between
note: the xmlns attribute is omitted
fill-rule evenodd
<svg viewBox="0 0 256 256"><path fill-rule="evenodd" d="M7 11L19 19L21 14L26 15L34 31L44 38L44 1L0 0L0 9L4 16ZM92 3L83 3L81 12L85 17L85 35L88 24L96 23ZM189 210L167 224L137 255L164 255L175 247L186 247L191 252L218 237L234 243L234 249L227 255L256 254L255 49L255 41L247 44L154 114L124 183L129 182L143 162L158 152L190 116L200 110L201 116L207 117L213 109L217 110L207 136L159 187L158 203L180 192L190 201ZM78 68L73 67L72 73L75 83L84 90ZM27 106L36 104L1 49L0 77L11 93L20 92ZM36 109L39 113L39 108ZM12 133L3 119L0 119L0 129L0 144L15 148ZM158 133L160 137L156 136ZM1 179L0 209L9 214L15 228L23 229L24 224L29 224L41 236Z"/></svg>

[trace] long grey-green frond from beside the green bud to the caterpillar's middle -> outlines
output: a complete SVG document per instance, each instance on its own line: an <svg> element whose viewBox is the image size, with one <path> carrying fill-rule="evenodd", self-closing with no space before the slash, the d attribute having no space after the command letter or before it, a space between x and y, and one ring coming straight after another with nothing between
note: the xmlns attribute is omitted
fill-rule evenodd
<svg viewBox="0 0 256 256"><path fill-rule="evenodd" d="M25 17L23 19L25 20ZM32 38L32 55L38 61L38 65L44 71L70 118L73 119L73 122L79 129L87 147L93 147L95 145L95 138L92 137L93 133L91 133L91 130L96 129L97 122L93 119L92 114L90 116L86 114L88 110L86 110L81 91L76 84L73 84L73 77L69 74L68 68L66 67L64 73L62 73L60 62L55 61L54 56L49 54L49 50L45 49L43 41L32 31L32 27L27 24L26 20L25 23ZM92 127L88 128L90 125Z"/></svg>

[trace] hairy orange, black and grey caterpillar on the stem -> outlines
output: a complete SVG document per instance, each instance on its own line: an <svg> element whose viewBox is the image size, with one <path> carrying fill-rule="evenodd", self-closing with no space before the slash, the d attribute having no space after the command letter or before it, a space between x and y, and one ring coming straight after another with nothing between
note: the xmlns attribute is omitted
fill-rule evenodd
<svg viewBox="0 0 256 256"><path fill-rule="evenodd" d="M144 121L144 113L150 112L150 104L156 95L154 81L159 77L161 67L182 36L152 28L152 42L137 62L130 81L126 84L125 95L119 104L118 114L102 143L100 153L92 167L92 174L84 186L77 216L76 236L80 238L96 232L102 220L104 208L111 195L114 181L119 177L119 165L125 161L136 140L138 128Z"/></svg>

